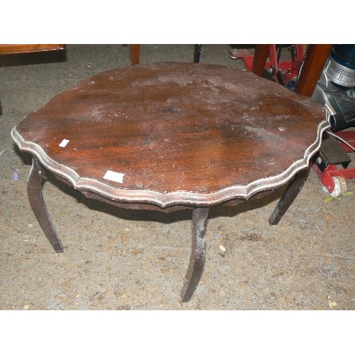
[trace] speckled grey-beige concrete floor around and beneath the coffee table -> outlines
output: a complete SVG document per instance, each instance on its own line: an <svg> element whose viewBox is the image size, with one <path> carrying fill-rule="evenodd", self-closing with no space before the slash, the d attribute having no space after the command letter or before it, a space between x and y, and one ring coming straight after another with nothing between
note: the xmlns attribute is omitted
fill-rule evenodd
<svg viewBox="0 0 355 355"><path fill-rule="evenodd" d="M201 62L242 68L229 45L203 45ZM141 64L191 62L193 45L142 45ZM1 310L354 310L355 195L329 195L313 171L278 226L283 188L236 207L214 207L195 295L180 302L190 258L191 211L160 214L87 200L48 175L45 202L65 252L56 254L31 210L31 157L10 131L75 82L129 65L121 45L67 45L60 55L0 57ZM13 173L18 181L13 181ZM355 192L355 180L348 182ZM220 245L226 249L221 253Z"/></svg>

